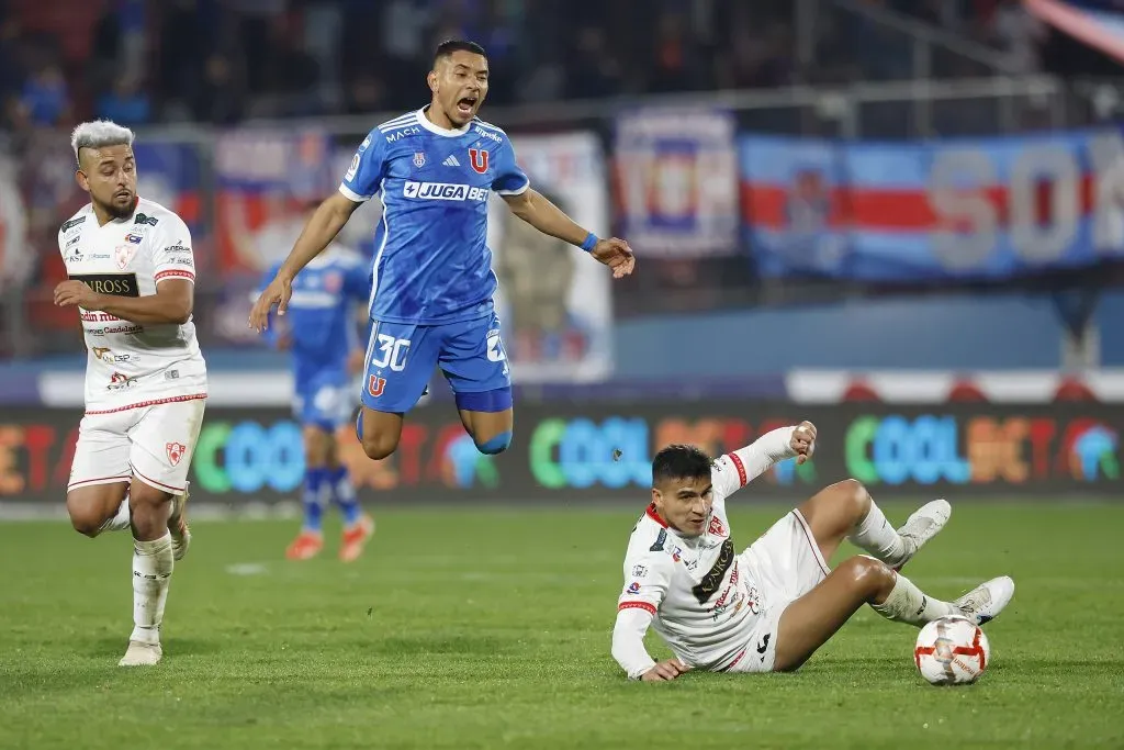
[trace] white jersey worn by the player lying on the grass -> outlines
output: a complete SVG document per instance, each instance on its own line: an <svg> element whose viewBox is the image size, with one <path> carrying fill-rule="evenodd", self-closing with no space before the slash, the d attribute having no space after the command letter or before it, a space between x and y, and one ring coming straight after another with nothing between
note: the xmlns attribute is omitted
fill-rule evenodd
<svg viewBox="0 0 1124 750"><path fill-rule="evenodd" d="M617 609L650 612L676 657L718 669L737 658L765 605L726 517L726 497L751 477L737 453L715 461L710 476L714 501L701 536L680 536L651 506L636 523Z"/></svg>

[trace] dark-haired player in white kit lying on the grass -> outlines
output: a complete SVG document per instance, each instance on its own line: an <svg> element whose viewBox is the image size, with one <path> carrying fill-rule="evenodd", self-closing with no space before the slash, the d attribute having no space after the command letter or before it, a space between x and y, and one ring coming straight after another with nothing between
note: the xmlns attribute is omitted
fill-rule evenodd
<svg viewBox="0 0 1124 750"><path fill-rule="evenodd" d="M726 497L777 461L803 463L816 428L804 422L711 460L670 445L652 461L652 504L625 555L625 587L613 629L613 657L632 679L671 680L691 668L764 672L797 669L863 604L887 620L921 626L945 615L981 625L1015 593L1004 576L954 602L923 594L898 572L949 521L933 500L895 531L853 479L824 489L737 553ZM832 570L843 540L865 550ZM676 658L644 649L649 625Z"/></svg>

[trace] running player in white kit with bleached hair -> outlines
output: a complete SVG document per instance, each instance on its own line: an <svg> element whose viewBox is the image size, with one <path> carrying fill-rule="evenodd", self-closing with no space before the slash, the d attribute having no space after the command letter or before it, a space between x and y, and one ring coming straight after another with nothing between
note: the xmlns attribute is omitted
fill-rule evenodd
<svg viewBox="0 0 1124 750"><path fill-rule="evenodd" d="M174 560L188 550L188 468L202 424L207 365L191 323L187 225L136 195L133 132L84 123L71 141L90 204L58 232L88 351L85 415L66 487L74 528L133 528L133 633L120 665L154 665Z"/></svg>

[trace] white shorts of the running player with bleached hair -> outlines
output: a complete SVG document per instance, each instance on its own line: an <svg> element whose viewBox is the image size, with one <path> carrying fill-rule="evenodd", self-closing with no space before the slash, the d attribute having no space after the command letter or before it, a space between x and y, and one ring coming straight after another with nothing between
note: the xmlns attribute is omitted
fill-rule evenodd
<svg viewBox="0 0 1124 750"><path fill-rule="evenodd" d="M87 414L79 425L66 491L136 477L165 493L182 493L206 404L193 398Z"/></svg>

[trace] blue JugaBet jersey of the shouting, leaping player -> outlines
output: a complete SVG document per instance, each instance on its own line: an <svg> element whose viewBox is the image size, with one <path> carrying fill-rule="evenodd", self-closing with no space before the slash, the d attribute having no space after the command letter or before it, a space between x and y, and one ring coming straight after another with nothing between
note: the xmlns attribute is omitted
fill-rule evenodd
<svg viewBox="0 0 1124 750"><path fill-rule="evenodd" d="M490 316L496 274L488 249L488 198L519 195L529 180L500 128L479 119L445 129L425 109L366 136L339 192L379 196L371 318L441 325Z"/></svg>

